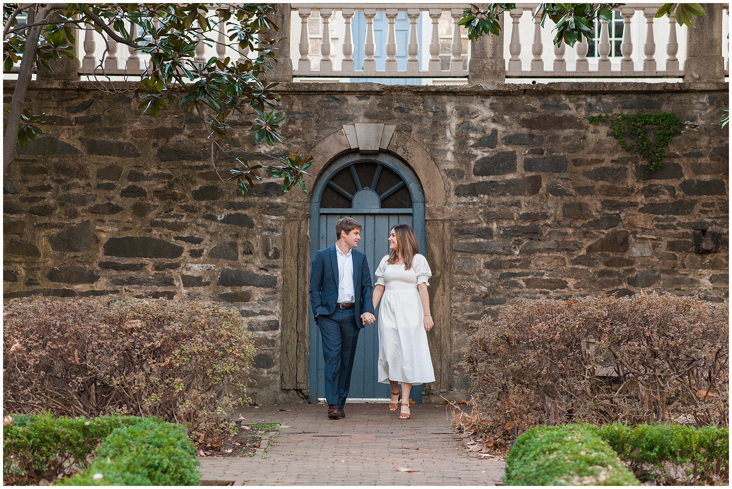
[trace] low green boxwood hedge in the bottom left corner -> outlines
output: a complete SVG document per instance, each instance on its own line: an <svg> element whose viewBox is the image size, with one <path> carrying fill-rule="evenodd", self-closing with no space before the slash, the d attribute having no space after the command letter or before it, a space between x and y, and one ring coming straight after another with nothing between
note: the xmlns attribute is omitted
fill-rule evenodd
<svg viewBox="0 0 732 489"><path fill-rule="evenodd" d="M133 416L86 419L53 417L47 412L12 418L3 431L6 485L53 482L79 469L81 474L60 484L198 484L195 448L182 426ZM94 449L96 458L89 466L86 457ZM94 474L102 478L94 479Z"/></svg>

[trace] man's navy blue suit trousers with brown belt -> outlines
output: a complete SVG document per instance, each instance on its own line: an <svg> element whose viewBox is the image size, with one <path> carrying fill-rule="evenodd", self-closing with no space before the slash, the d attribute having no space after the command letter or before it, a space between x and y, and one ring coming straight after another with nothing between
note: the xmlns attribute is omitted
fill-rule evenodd
<svg viewBox="0 0 732 489"><path fill-rule="evenodd" d="M318 316L325 360L325 395L329 404L346 406L351 372L354 369L359 329L353 309L339 309L329 316Z"/></svg>

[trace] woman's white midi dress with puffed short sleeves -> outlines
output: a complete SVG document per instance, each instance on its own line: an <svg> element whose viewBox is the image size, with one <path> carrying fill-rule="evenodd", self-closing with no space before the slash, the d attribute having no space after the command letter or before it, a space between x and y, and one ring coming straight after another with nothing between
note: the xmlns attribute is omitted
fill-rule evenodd
<svg viewBox="0 0 732 489"><path fill-rule="evenodd" d="M427 258L414 255L411 269L390 265L384 256L376 269L376 284L384 285L378 311L378 381L423 384L435 381L427 346L422 301L417 284L432 277Z"/></svg>

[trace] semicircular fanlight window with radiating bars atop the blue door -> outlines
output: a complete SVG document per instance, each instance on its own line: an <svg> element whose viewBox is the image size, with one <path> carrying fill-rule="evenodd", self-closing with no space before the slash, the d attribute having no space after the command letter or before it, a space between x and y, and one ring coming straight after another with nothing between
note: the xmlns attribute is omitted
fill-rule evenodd
<svg viewBox="0 0 732 489"><path fill-rule="evenodd" d="M321 209L410 209L406 182L380 163L362 162L338 171L323 191Z"/></svg>

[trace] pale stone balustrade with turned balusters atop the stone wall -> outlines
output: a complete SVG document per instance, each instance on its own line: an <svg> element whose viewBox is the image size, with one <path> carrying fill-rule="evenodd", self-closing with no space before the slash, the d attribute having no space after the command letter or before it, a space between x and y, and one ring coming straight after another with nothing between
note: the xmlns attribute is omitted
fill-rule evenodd
<svg viewBox="0 0 732 489"><path fill-rule="evenodd" d="M468 78L471 42L458 22L469 4L289 5L291 23L280 34L290 39L294 78ZM547 20L541 26L537 6L516 4L514 10L504 13L501 35L506 78L684 76L687 28L679 27L673 15L655 18L661 4L619 7L613 20L600 20L592 43L583 39L569 49L564 43L553 45L554 24ZM709 35L722 36L728 76L728 4L722 8L722 31ZM378 15L384 16L384 22L375 31ZM140 75L149 64L148 55L132 48L120 50L116 42L90 26L78 37L83 37L81 75ZM225 45L223 31L218 31L217 41L201 39L195 49L196 61L205 62L211 56L241 61L249 55L248 50L239 52Z"/></svg>

